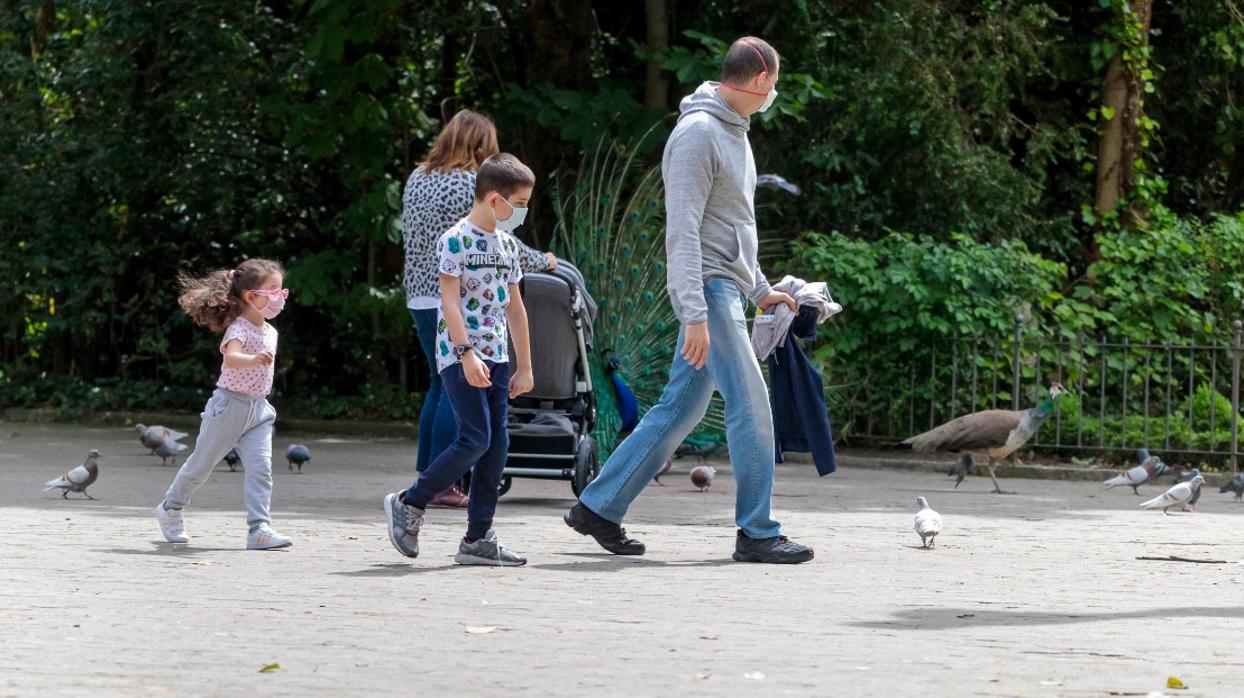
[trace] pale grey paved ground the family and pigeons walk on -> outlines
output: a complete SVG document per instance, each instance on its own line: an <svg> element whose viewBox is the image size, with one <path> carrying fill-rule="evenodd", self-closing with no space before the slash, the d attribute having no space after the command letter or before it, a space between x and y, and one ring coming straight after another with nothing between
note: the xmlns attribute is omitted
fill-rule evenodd
<svg viewBox="0 0 1244 698"><path fill-rule="evenodd" d="M284 452L297 434L281 433ZM413 443L306 437L276 475L287 551L244 550L241 474L224 465L163 542L152 506L172 468L132 430L0 423L0 696L1178 696L1244 686L1244 505L1207 491L1163 516L1091 483L809 465L775 509L814 562L741 565L733 482L694 491L688 464L628 520L613 557L561 523L569 483L519 480L499 509L524 569L450 556L464 515L433 511L399 557L381 498ZM103 452L100 501L42 483ZM1147 493L1159 491L1146 488ZM918 547L912 501L943 513ZM1141 561L1178 555L1224 565ZM269 662L281 669L259 673Z"/></svg>

